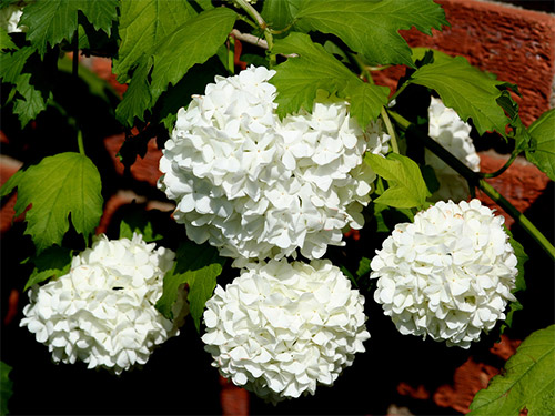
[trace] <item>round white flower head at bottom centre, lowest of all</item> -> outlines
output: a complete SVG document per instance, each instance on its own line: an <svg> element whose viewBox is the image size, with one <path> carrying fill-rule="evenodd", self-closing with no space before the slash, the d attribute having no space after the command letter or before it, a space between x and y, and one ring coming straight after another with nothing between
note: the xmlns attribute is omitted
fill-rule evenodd
<svg viewBox="0 0 555 416"><path fill-rule="evenodd" d="M332 385L364 352L364 297L330 261L251 263L206 302L213 366L276 404Z"/></svg>

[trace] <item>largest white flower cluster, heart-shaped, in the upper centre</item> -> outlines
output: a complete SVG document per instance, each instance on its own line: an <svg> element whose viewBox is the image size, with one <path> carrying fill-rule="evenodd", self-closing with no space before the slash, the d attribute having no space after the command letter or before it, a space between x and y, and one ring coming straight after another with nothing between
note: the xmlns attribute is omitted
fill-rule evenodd
<svg viewBox="0 0 555 416"><path fill-rule="evenodd" d="M389 136L379 122L363 131L339 100L280 120L274 73L251 67L193 97L165 143L159 187L188 236L221 255L281 258L299 247L319 258L343 244L343 227L362 227L375 179L363 154L386 152Z"/></svg>

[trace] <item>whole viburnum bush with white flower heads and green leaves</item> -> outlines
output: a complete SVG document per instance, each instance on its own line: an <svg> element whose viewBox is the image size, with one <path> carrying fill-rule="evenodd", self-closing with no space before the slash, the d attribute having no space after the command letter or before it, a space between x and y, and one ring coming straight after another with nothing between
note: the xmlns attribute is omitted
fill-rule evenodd
<svg viewBox="0 0 555 416"><path fill-rule="evenodd" d="M373 354L370 303L445 348L503 333L527 255L476 192L532 236L526 251L555 260L485 181L521 154L554 180L555 111L526 128L517 85L398 34L448 24L432 0L2 0L2 129L23 166L1 196L17 192L32 241L18 276L29 339L119 375L149 366L189 319L222 376L279 407ZM111 59L122 98L82 55ZM394 93L374 83L397 64ZM99 150L107 132L125 133L119 182ZM493 174L473 144L486 133L514 148ZM145 190L129 177L153 138L162 175ZM94 235L129 186L173 209L133 205ZM548 408L553 377L537 393L524 373L548 377L549 331L474 414Z"/></svg>

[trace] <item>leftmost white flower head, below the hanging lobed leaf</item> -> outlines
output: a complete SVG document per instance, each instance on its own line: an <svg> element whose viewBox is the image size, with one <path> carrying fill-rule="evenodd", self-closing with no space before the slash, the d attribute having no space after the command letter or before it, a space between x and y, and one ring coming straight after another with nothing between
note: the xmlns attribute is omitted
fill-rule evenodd
<svg viewBox="0 0 555 416"><path fill-rule="evenodd" d="M154 307L174 256L141 235L101 235L73 257L68 274L31 287L20 326L48 345L57 363L80 359L115 374L144 364L157 345L179 334L188 312L184 293L175 302L174 323Z"/></svg>

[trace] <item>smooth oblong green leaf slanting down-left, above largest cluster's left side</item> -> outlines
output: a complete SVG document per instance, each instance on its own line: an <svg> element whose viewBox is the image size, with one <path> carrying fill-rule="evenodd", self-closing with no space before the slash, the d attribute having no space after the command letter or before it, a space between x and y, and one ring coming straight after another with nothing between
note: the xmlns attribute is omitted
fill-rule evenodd
<svg viewBox="0 0 555 416"><path fill-rule="evenodd" d="M153 101L175 84L195 63L214 55L233 29L238 14L228 8L203 11L164 38L154 53L151 93Z"/></svg>

